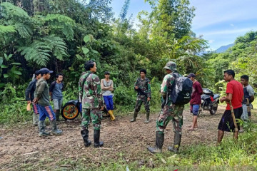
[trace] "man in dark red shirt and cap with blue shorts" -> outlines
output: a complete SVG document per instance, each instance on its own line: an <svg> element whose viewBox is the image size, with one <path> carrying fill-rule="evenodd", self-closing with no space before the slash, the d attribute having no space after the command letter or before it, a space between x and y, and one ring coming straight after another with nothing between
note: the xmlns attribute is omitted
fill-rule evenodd
<svg viewBox="0 0 257 171"><path fill-rule="evenodd" d="M194 128L198 128L197 116L201 105L201 94L203 94L203 89L201 88L201 84L196 81L196 75L194 73L188 74L187 77L193 82L193 90L190 100L190 110L191 113L193 113L193 125L189 128L189 130L192 131Z"/></svg>

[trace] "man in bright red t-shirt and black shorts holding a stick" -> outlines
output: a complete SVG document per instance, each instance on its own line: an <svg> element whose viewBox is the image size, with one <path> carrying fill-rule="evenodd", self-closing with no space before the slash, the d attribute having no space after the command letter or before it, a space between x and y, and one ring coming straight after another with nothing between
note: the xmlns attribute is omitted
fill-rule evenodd
<svg viewBox="0 0 257 171"><path fill-rule="evenodd" d="M240 119L243 113L242 101L243 101L243 86L238 81L234 80L235 72L233 70L224 71L224 80L228 82L226 87L226 96L223 96L220 101L223 103L226 101L226 110L222 115L221 121L218 124L218 144L224 135L224 131L234 132L235 125L233 123L233 118L231 115L231 108L229 106L229 101L231 100L233 106L233 112L235 113L235 118ZM239 130L239 125L238 125ZM238 139L238 132L234 132L233 138Z"/></svg>

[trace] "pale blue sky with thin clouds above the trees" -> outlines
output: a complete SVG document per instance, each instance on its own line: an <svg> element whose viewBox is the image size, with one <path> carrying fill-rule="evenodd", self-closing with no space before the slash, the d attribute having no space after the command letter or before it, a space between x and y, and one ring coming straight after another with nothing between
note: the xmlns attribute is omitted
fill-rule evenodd
<svg viewBox="0 0 257 171"><path fill-rule="evenodd" d="M114 16L119 16L125 0L112 0ZM208 41L208 50L233 43L248 31L257 31L256 0L191 0L196 8L192 31ZM127 17L133 14L134 24L139 11L151 11L144 0L131 0Z"/></svg>

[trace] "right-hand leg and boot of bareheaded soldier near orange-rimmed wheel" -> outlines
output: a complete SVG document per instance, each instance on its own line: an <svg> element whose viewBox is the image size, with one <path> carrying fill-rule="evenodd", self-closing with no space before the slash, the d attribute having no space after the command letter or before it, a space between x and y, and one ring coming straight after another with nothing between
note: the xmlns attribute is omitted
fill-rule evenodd
<svg viewBox="0 0 257 171"><path fill-rule="evenodd" d="M101 128L101 110L98 108L91 109L91 118L94 127L94 147L101 147L104 145L104 142L100 141L100 128Z"/></svg>

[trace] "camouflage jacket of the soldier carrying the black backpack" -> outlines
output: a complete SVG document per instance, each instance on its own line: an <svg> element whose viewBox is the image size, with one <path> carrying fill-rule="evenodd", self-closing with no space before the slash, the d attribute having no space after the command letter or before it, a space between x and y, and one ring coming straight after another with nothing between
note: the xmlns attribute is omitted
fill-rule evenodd
<svg viewBox="0 0 257 171"><path fill-rule="evenodd" d="M171 86L173 82L175 81L175 78L173 74L176 74L176 76L180 77L181 74L179 73L168 73L164 78L163 82L161 83L161 102L163 103L164 100L166 100L166 103L171 102L171 96L168 95L168 93L171 93ZM167 104L169 105L169 104Z"/></svg>

